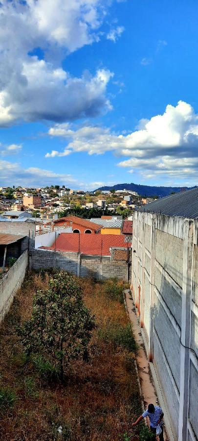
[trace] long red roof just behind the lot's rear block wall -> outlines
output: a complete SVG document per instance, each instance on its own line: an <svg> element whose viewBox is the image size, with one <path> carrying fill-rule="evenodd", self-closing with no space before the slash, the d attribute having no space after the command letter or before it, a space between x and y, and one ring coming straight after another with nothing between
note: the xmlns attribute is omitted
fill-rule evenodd
<svg viewBox="0 0 198 441"><path fill-rule="evenodd" d="M56 251L80 252L91 256L110 256L110 247L128 248L131 243L125 242L123 235L114 234L75 234L61 233L56 240ZM55 243L51 247L40 248L55 250ZM101 250L102 248L102 250Z"/></svg>

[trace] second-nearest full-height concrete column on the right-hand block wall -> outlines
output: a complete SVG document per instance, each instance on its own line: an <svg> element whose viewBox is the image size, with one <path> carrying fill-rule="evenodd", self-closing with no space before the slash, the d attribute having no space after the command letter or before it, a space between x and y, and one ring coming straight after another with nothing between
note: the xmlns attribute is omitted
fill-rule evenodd
<svg viewBox="0 0 198 441"><path fill-rule="evenodd" d="M149 302L149 361L154 357L154 261L155 261L155 215L152 216L151 227L151 268L150 268L150 302Z"/></svg>

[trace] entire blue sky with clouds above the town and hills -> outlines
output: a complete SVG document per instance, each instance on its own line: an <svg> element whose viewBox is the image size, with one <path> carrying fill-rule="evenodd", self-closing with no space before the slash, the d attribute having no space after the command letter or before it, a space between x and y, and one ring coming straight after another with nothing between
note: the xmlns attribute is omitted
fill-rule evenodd
<svg viewBox="0 0 198 441"><path fill-rule="evenodd" d="M196 0L0 12L0 185L198 185Z"/></svg>

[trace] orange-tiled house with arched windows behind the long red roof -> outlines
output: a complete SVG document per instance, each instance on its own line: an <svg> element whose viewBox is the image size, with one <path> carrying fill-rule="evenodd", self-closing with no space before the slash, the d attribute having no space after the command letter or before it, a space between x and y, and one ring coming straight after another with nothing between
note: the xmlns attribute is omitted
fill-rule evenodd
<svg viewBox="0 0 198 441"><path fill-rule="evenodd" d="M102 225L96 222L91 222L86 219L78 218L77 216L67 216L54 221L54 225L71 226L73 233L100 233Z"/></svg>

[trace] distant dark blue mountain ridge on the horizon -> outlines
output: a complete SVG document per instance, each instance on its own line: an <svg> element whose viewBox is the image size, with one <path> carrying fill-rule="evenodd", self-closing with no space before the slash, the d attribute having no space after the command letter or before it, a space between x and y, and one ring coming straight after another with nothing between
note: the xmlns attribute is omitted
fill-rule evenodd
<svg viewBox="0 0 198 441"><path fill-rule="evenodd" d="M197 186L195 185L194 187L155 187L155 186L150 186L150 185L139 185L139 184L134 184L133 182L131 182L131 184L116 184L116 185L112 185L112 186L108 186L105 185L104 187L100 187L95 191L105 191L105 190L124 190L126 188L126 190L132 190L133 192L137 192L138 195L141 196L159 196L159 197L163 197L163 196L169 196L172 192L180 192L180 191L184 191L184 190L191 190L193 188L196 188Z"/></svg>

